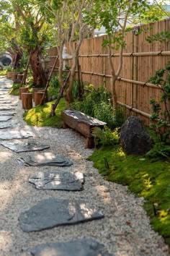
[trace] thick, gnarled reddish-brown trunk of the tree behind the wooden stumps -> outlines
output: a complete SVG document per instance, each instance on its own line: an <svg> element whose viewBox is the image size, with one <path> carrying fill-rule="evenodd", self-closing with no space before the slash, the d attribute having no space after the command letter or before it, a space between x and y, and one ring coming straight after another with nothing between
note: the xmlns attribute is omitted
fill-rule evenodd
<svg viewBox="0 0 170 256"><path fill-rule="evenodd" d="M44 69L42 68L42 61L40 59L41 47L32 50L30 57L30 64L32 67L33 84L37 88L45 88L47 78L45 77Z"/></svg>

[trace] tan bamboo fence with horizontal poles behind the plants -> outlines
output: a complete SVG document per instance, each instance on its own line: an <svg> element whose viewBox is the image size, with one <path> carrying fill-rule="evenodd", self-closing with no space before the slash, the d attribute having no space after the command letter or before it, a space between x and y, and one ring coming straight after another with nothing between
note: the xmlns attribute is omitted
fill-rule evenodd
<svg viewBox="0 0 170 256"><path fill-rule="evenodd" d="M152 112L150 100L161 98L161 88L148 82L158 69L166 67L170 60L170 42L148 43L148 36L168 31L170 33L170 19L140 26L142 32L135 35L132 31L126 34L126 48L123 53L123 64L120 77L116 82L117 102L127 109L128 114L140 116L146 125ZM83 41L79 51L83 81L98 88L103 85L110 88L111 70L109 67L107 48L102 47L106 35L88 38ZM57 49L48 50L50 66L53 65ZM119 64L119 51L112 52L114 66Z"/></svg>

